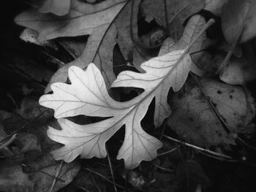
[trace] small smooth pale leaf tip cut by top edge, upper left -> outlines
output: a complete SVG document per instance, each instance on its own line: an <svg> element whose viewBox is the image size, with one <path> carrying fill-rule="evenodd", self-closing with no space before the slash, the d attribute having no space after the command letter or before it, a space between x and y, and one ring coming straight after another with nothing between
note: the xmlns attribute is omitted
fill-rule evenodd
<svg viewBox="0 0 256 192"><path fill-rule="evenodd" d="M39 7L39 12L47 13L52 12L55 15L67 15L70 9L71 0L45 0L41 7Z"/></svg>

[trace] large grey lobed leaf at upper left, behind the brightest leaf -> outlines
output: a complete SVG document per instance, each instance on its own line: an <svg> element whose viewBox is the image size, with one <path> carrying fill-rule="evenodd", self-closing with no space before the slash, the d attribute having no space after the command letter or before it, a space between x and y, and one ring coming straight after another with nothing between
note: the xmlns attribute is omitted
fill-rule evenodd
<svg viewBox="0 0 256 192"><path fill-rule="evenodd" d="M125 0L107 0L99 4L72 1L69 14L61 18L42 14L34 9L23 12L15 18L15 22L19 25L38 31L38 41L90 35L80 57L63 66L53 75L45 89L46 93L50 91L53 82L66 82L69 66L75 65L85 69L90 62L94 62L99 67L110 87L116 78L110 62L116 39L116 28L111 23L125 4Z"/></svg>

